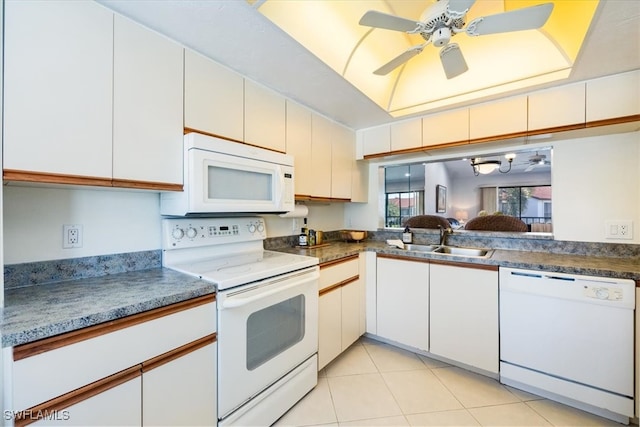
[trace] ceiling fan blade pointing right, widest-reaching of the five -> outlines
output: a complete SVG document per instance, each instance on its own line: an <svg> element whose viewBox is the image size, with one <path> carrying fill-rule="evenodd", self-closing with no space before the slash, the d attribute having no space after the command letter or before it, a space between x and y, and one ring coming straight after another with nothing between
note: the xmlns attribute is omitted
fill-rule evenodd
<svg viewBox="0 0 640 427"><path fill-rule="evenodd" d="M549 19L552 10L553 3L544 3L476 18L467 25L465 31L470 36L482 36L509 31L532 30L542 27Z"/></svg>

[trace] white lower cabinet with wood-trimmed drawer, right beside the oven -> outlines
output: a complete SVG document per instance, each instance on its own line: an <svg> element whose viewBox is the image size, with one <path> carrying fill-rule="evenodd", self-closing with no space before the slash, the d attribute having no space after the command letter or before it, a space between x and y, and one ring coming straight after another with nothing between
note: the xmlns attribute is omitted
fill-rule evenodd
<svg viewBox="0 0 640 427"><path fill-rule="evenodd" d="M318 300L318 370L364 333L364 305L358 256L320 265Z"/></svg>

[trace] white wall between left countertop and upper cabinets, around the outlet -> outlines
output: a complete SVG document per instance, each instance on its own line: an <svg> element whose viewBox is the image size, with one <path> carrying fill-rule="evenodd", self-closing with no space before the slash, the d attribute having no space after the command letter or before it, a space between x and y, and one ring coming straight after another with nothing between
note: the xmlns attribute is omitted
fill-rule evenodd
<svg viewBox="0 0 640 427"><path fill-rule="evenodd" d="M62 225L83 226L83 247L62 249ZM4 262L160 249L160 197L142 191L5 186Z"/></svg>

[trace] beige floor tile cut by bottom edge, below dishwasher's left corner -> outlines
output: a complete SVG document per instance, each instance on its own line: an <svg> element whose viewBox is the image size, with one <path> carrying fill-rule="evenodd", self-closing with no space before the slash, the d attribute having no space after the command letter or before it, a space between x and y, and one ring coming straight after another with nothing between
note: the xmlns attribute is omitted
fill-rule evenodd
<svg viewBox="0 0 640 427"><path fill-rule="evenodd" d="M469 409L483 426L550 426L544 418L525 403L485 406Z"/></svg>

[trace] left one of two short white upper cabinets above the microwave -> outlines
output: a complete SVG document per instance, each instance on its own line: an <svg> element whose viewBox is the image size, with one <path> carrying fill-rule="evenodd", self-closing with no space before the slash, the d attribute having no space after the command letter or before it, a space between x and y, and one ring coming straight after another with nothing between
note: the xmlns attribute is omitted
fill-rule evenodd
<svg viewBox="0 0 640 427"><path fill-rule="evenodd" d="M244 140L244 79L185 49L184 127Z"/></svg>

